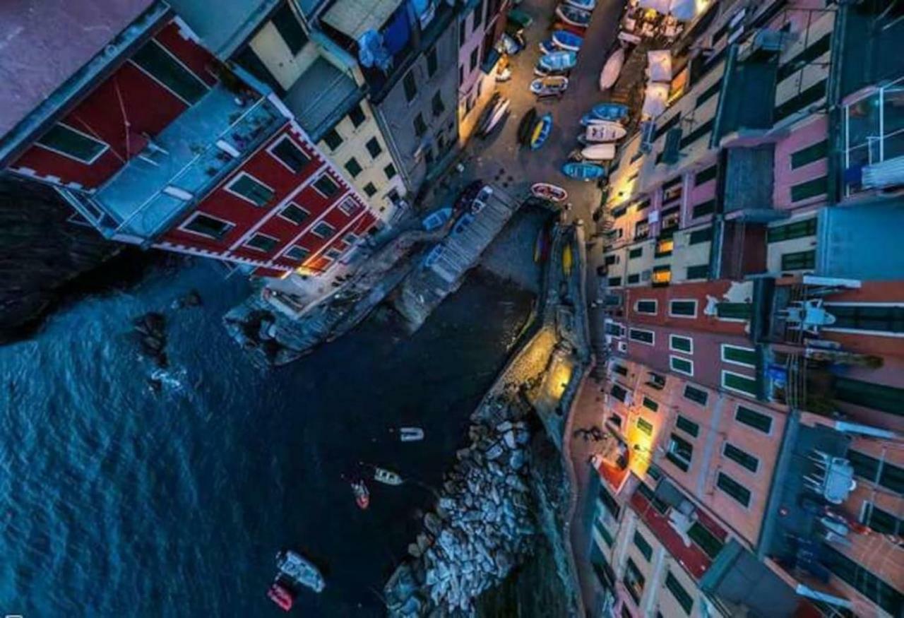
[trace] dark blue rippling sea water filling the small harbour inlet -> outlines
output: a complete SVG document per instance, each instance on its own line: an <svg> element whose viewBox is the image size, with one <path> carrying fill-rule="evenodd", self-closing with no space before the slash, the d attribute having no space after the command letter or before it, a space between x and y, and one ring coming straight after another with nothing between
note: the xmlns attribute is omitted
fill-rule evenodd
<svg viewBox="0 0 904 618"><path fill-rule="evenodd" d="M171 310L191 288L201 308ZM501 368L530 296L472 276L405 337L372 319L287 368L253 368L221 328L248 293L205 263L58 314L0 348L0 614L268 616L279 548L322 567L296 615L381 615L386 576L419 529L466 417ZM131 319L163 310L161 395ZM423 426L401 445L388 433ZM357 510L359 460L412 479Z"/></svg>

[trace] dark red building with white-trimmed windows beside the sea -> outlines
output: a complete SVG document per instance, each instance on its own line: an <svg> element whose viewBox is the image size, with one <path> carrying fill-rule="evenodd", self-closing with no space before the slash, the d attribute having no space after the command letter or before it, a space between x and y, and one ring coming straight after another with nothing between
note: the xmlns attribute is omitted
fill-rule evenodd
<svg viewBox="0 0 904 618"><path fill-rule="evenodd" d="M371 229L366 199L291 112L217 61L167 5L65 11L76 13L71 22L48 24L25 9L5 17L15 34L4 64L34 50L53 58L40 70L8 71L5 170L52 184L109 239L261 276L320 272ZM80 23L103 26L70 32Z"/></svg>

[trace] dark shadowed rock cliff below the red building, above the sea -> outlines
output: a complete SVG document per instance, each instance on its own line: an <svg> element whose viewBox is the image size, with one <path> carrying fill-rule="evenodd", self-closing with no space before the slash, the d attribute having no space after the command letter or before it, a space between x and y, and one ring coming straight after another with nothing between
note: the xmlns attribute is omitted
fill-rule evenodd
<svg viewBox="0 0 904 618"><path fill-rule="evenodd" d="M106 289L155 259L72 214L51 187L0 174L0 343L27 337L64 298ZM118 254L116 267L98 270Z"/></svg>

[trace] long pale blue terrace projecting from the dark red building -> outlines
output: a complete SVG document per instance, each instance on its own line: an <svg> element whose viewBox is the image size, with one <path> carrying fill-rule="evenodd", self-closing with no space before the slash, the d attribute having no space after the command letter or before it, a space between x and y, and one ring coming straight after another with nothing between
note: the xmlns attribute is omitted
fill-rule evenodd
<svg viewBox="0 0 904 618"><path fill-rule="evenodd" d="M285 122L257 92L218 84L91 196L102 231L151 241Z"/></svg>

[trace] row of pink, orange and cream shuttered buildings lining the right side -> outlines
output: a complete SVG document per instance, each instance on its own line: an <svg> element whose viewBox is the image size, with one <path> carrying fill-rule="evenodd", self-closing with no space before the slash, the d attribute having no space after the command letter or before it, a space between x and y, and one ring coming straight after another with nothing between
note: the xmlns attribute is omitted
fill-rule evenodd
<svg viewBox="0 0 904 618"><path fill-rule="evenodd" d="M904 610L901 23L713 3L598 229L598 615ZM873 514L875 513L875 514Z"/></svg>

